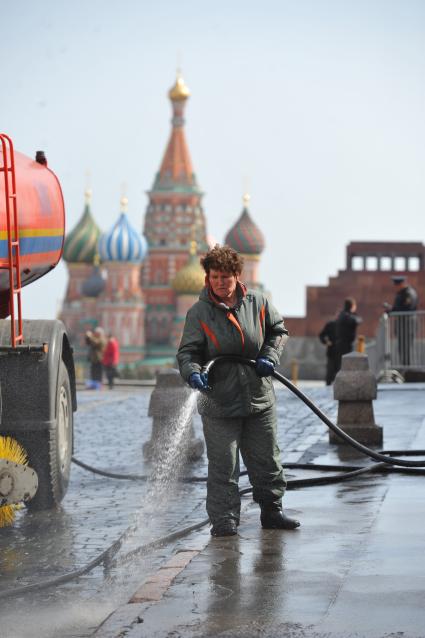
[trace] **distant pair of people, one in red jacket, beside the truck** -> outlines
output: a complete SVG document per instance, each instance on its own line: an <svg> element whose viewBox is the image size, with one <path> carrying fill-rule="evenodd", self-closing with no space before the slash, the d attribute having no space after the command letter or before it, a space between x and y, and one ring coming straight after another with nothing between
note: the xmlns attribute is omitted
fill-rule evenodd
<svg viewBox="0 0 425 638"><path fill-rule="evenodd" d="M98 326L93 331L86 332L86 344L90 362L90 379L86 382L86 388L101 390L105 373L108 387L112 390L115 378L120 376L117 367L120 359L117 339L113 334L108 334L106 338L105 331Z"/></svg>

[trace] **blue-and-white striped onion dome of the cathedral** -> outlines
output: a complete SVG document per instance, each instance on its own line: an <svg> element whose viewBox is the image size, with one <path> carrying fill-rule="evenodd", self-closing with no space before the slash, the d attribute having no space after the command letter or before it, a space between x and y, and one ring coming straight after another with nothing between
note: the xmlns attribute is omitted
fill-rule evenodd
<svg viewBox="0 0 425 638"><path fill-rule="evenodd" d="M121 214L108 232L99 239L99 255L102 261L140 262L146 257L148 244L130 224L126 210L128 200L121 198Z"/></svg>

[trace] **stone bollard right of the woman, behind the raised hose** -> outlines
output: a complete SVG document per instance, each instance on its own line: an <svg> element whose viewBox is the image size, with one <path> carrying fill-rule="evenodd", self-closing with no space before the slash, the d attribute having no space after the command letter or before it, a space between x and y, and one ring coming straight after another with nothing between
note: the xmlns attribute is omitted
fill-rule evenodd
<svg viewBox="0 0 425 638"><path fill-rule="evenodd" d="M373 399L376 399L376 379L369 370L367 354L350 352L342 357L341 370L334 382L334 399L339 401L337 425L349 436L366 445L381 445L382 427L376 425ZM345 441L329 430L329 442Z"/></svg>

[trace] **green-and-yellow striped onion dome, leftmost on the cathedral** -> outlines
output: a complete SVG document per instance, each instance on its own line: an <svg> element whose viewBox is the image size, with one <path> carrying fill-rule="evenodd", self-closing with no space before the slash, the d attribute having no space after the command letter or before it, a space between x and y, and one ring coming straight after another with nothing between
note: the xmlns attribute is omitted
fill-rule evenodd
<svg viewBox="0 0 425 638"><path fill-rule="evenodd" d="M84 197L83 215L65 238L63 258L69 263L92 264L97 252L97 242L101 231L90 210L91 190L86 190Z"/></svg>

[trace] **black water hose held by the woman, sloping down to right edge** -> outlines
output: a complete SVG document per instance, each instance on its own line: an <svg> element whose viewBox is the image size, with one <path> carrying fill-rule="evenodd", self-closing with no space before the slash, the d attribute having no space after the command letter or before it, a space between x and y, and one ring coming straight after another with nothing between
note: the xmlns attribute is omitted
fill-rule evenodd
<svg viewBox="0 0 425 638"><path fill-rule="evenodd" d="M202 372L206 374L210 374L213 368L217 364L224 363L226 361L227 362L231 361L233 363L241 363L243 365L250 366L251 368L255 368L255 365L256 365L256 362L254 359L246 359L245 357L240 357L238 355L226 354L226 355L220 355L218 357L215 357L214 359L211 359L211 361L209 361L206 364L206 366L204 366L204 368L202 369ZM386 454L383 454L382 452L375 452L374 450L371 450L370 448L366 447L366 445L359 443L355 439L351 438L351 436L349 436L346 432L344 432L344 430L341 430L341 428L338 427L335 423L332 423L332 421L326 416L326 414L322 412L322 410L318 408L317 405L315 405L313 401L311 401L311 399L309 399L308 396L304 394L304 392L301 392L301 390L297 388L296 385L291 383L289 379L284 377L279 372L276 372L276 370L272 372L271 376L274 377L277 381L280 381L280 383L286 386L299 399L301 399L301 401L303 401L303 403L305 403L310 408L310 410L314 412L319 417L319 419L321 419L323 423L325 423L325 425L328 426L329 429L335 432L335 434L337 434L346 443L351 445L351 447L355 448L356 450L359 450L359 452L362 452L366 456L369 456L369 458L375 459L375 461L380 461L381 463L386 463L388 465L396 465L400 467L425 467L425 461L407 461L405 459L400 459L400 458L390 456L388 453L386 455ZM418 452L416 452L416 454L418 454Z"/></svg>

